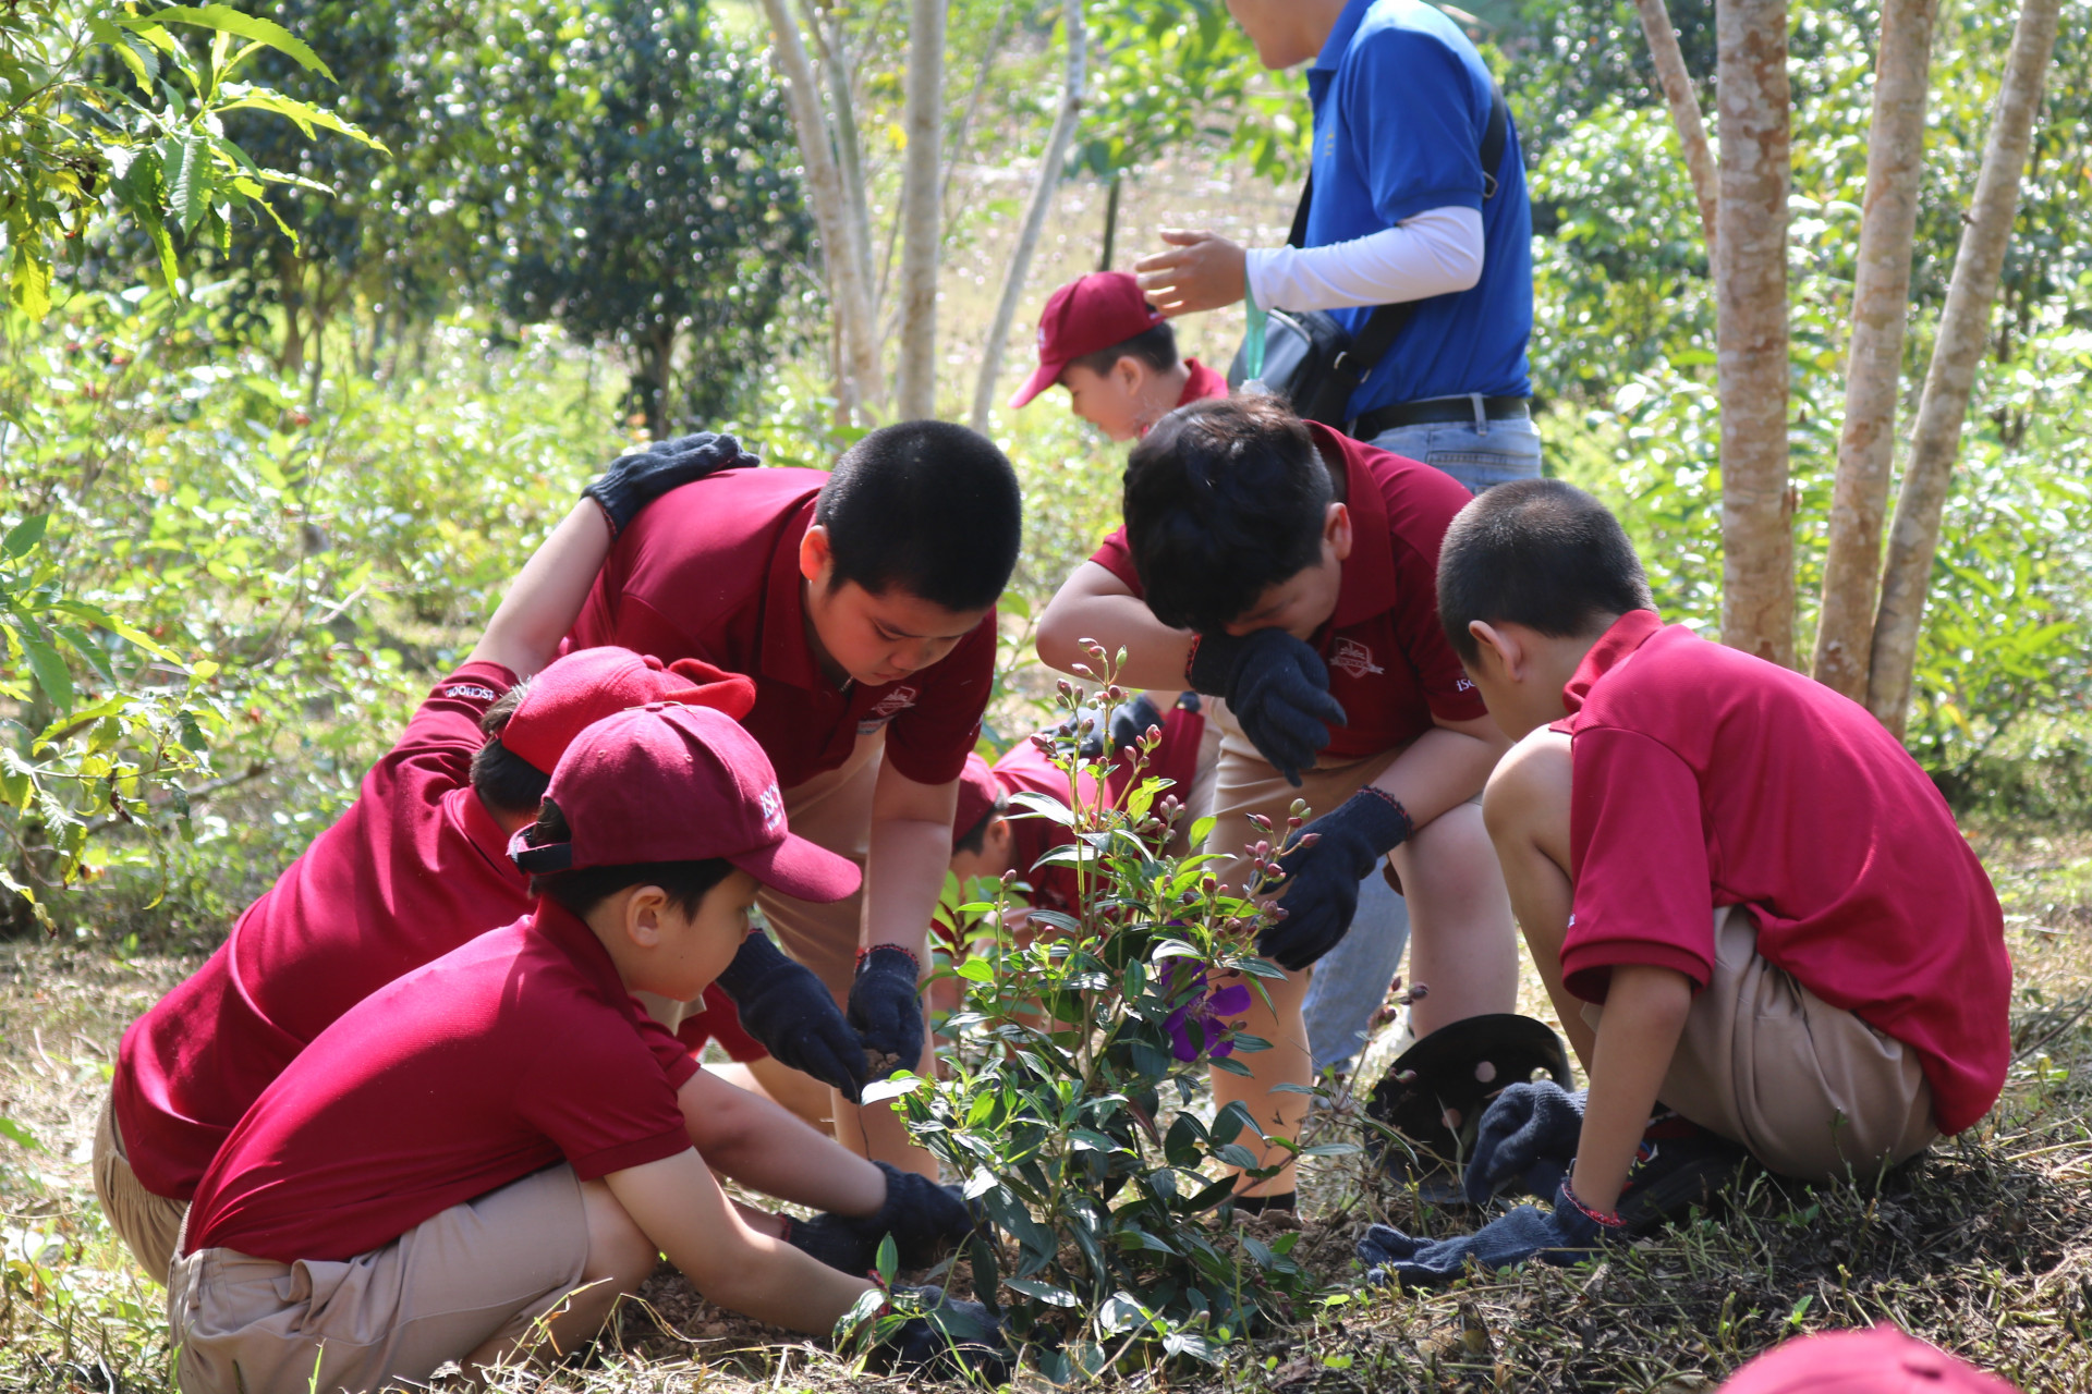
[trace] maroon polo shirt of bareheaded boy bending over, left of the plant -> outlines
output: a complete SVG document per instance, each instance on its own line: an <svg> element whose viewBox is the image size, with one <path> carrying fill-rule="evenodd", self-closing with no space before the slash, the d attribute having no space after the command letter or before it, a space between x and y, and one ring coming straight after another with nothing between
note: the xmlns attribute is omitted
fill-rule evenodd
<svg viewBox="0 0 2092 1394"><path fill-rule="evenodd" d="M703 658L755 679L743 725L795 788L841 767L860 734L918 784L950 784L981 734L996 673L994 610L950 654L893 683L835 686L808 637L799 541L820 470L722 470L672 489L617 535L569 644Z"/></svg>

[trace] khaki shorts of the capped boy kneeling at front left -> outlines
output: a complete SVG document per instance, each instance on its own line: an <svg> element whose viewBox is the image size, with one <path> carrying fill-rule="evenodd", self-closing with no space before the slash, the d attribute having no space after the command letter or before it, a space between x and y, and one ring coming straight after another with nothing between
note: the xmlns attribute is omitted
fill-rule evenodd
<svg viewBox="0 0 2092 1394"><path fill-rule="evenodd" d="M565 1162L347 1262L184 1254L167 1281L176 1384L182 1394L335 1394L425 1381L496 1335L525 1335L586 1264L588 1216Z"/></svg>

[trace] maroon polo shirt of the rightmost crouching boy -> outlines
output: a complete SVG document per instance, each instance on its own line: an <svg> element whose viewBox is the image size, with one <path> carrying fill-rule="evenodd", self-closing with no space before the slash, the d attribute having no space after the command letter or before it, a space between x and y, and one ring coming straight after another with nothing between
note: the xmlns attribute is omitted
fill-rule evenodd
<svg viewBox="0 0 2092 1394"><path fill-rule="evenodd" d="M2010 1058L2013 963L1983 865L1866 708L1751 654L1621 617L1563 688L1575 913L1563 980L1713 968L1715 905L1757 953L1918 1053L1941 1133L1981 1118Z"/></svg>

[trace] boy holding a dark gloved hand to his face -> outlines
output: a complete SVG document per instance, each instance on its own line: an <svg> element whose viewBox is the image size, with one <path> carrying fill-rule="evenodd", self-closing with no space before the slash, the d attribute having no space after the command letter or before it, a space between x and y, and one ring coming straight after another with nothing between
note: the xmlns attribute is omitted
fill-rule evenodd
<svg viewBox="0 0 2092 1394"><path fill-rule="evenodd" d="M1517 934L1481 809L1504 738L1437 627L1437 548L1469 493L1439 470L1301 422L1270 397L1197 401L1163 418L1125 466L1125 529L1061 587L1040 658L1088 663L1084 640L1125 650L1119 681L1186 679L1224 696L1213 832L1243 886L1245 846L1276 844L1305 798L1316 834L1284 859L1284 917L1257 940L1287 970L1238 1053L1213 1074L1268 1135L1291 1137L1312 1062L1308 966L1351 926L1360 880L1383 859L1410 903L1416 1035L1517 997ZM1251 817L1270 819L1264 826ZM1280 1162L1280 1147L1266 1149ZM1291 1204L1293 1168L1245 1187ZM1238 1202L1241 1204L1241 1202Z"/></svg>

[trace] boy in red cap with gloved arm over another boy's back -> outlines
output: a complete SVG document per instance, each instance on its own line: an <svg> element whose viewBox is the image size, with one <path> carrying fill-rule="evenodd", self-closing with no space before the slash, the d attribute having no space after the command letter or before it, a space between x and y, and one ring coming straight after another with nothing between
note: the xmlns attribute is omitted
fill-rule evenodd
<svg viewBox="0 0 2092 1394"><path fill-rule="evenodd" d="M575 508L523 568L467 663L364 775L356 805L238 917L195 976L123 1035L96 1129L94 1185L155 1281L167 1275L211 1156L305 1043L400 974L529 909L506 840L533 817L575 731L651 700L747 711L747 679L720 681L703 665L665 671L628 650L571 654L536 679L517 677L552 652L594 581L611 525L630 522L630 508L644 502L630 487L632 460L665 485L697 466L747 460L730 437L682 445L682 470L659 470L651 462L663 456L649 454L621 460L592 487L592 497L607 491L619 508ZM856 1032L768 940L751 938L728 980L784 1055L843 1081L862 1070ZM680 1022L684 1045L703 1045L705 1028L722 1018L732 1022L732 1009ZM743 1058L761 1049L738 1026L722 1039ZM766 1101L709 1072L692 1076L686 1093L692 1139L728 1175L822 1210L862 1216L885 1202L874 1168Z"/></svg>

